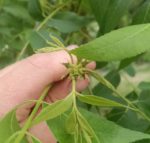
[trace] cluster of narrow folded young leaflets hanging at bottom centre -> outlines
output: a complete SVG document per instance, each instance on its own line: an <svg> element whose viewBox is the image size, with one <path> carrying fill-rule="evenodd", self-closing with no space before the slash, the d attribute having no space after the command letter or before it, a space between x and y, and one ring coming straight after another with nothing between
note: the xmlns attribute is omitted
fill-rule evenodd
<svg viewBox="0 0 150 143"><path fill-rule="evenodd" d="M92 143L93 139L97 140L95 132L76 108L73 108L66 120L66 131L74 136L74 142L85 140L84 142Z"/></svg>

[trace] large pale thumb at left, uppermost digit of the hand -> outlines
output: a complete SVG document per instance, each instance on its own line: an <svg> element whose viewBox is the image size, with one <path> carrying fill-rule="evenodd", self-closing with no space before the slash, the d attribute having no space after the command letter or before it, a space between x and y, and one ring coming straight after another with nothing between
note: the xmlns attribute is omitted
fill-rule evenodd
<svg viewBox="0 0 150 143"><path fill-rule="evenodd" d="M38 99L45 86L66 74L63 63L68 62L68 53L59 51L35 54L3 69L0 73L0 114L25 100Z"/></svg>

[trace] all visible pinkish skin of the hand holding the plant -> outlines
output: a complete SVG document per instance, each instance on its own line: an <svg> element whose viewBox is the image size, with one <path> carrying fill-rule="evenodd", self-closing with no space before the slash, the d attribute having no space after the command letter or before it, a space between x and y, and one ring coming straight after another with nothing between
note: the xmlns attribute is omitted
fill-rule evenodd
<svg viewBox="0 0 150 143"><path fill-rule="evenodd" d="M71 62L69 55L65 51L59 51L35 54L0 70L0 117L5 116L18 104L27 100L37 100L49 84L53 84L53 87L45 99L46 102L55 102L66 97L71 90L71 81L62 77L67 74L63 63L68 62ZM75 62L76 57L74 57ZM88 64L87 68L94 69L95 63ZM88 84L88 78L79 79L76 89L82 91ZM23 125L33 107L34 103L24 105L17 110L20 125ZM56 143L45 122L32 127L30 133L42 143Z"/></svg>

